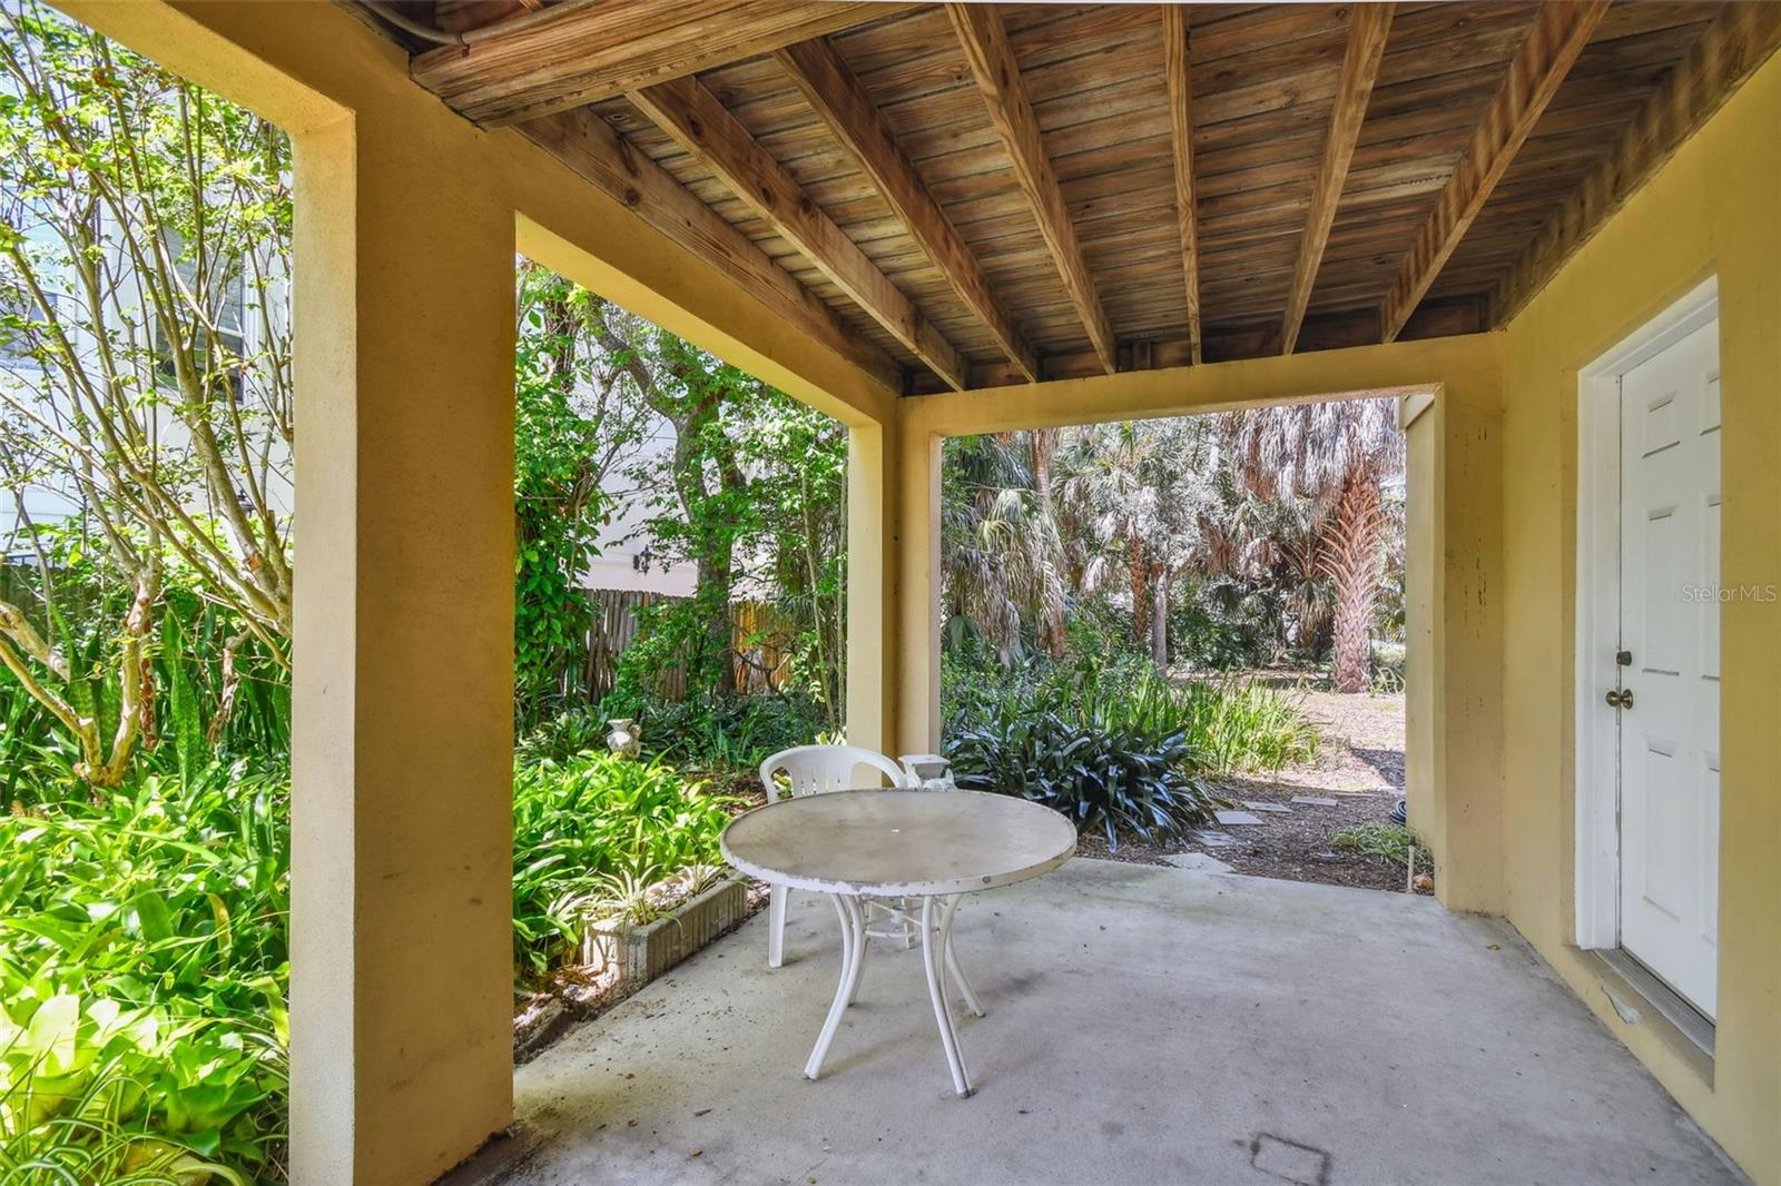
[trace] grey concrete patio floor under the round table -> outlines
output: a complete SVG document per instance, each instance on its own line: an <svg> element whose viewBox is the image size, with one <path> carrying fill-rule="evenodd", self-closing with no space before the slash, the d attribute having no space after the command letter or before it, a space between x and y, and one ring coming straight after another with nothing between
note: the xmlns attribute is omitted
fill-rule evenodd
<svg viewBox="0 0 1781 1186"><path fill-rule="evenodd" d="M953 1095L917 951L825 1077L835 917L793 898L522 1067L470 1182L1736 1182L1516 933L1432 899L1076 860L967 901Z"/></svg>

